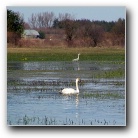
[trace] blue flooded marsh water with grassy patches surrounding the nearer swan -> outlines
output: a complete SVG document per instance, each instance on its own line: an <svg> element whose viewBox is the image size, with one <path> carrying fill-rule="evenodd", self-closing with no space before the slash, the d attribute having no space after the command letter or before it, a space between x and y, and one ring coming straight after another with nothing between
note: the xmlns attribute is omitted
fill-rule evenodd
<svg viewBox="0 0 138 138"><path fill-rule="evenodd" d="M8 62L8 125L125 126L125 65L121 62ZM62 95L76 87L78 95Z"/></svg>

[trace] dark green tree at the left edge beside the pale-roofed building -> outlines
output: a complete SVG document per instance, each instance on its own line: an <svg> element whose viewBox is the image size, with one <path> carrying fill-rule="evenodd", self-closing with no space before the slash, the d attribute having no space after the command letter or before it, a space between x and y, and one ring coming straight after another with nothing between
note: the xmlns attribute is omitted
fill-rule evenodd
<svg viewBox="0 0 138 138"><path fill-rule="evenodd" d="M7 10L7 42L17 45L24 31L24 21L19 13Z"/></svg>

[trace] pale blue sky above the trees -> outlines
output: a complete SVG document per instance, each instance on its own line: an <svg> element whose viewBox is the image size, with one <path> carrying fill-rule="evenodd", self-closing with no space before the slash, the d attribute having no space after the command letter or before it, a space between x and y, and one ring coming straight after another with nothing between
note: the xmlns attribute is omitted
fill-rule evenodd
<svg viewBox="0 0 138 138"><path fill-rule="evenodd" d="M7 9L14 12L19 12L23 15L25 22L32 13L54 12L58 17L59 13L69 13L75 19L89 19L89 20L104 20L104 21L117 21L119 18L126 18L125 6L7 6Z"/></svg>

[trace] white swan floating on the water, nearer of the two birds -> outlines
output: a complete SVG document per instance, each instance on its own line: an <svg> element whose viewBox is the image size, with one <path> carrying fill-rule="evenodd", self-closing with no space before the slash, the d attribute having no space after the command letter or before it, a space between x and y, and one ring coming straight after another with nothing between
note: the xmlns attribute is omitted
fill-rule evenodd
<svg viewBox="0 0 138 138"><path fill-rule="evenodd" d="M60 93L62 94L78 94L79 93L79 87L78 82L80 81L80 78L76 79L76 90L73 88L64 88Z"/></svg>

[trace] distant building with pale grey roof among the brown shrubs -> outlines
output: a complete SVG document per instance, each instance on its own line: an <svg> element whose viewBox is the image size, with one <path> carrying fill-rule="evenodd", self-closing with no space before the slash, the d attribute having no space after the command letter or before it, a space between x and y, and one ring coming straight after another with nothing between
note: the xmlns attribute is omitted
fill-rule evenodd
<svg viewBox="0 0 138 138"><path fill-rule="evenodd" d="M24 30L23 38L39 38L39 33L36 30Z"/></svg>

